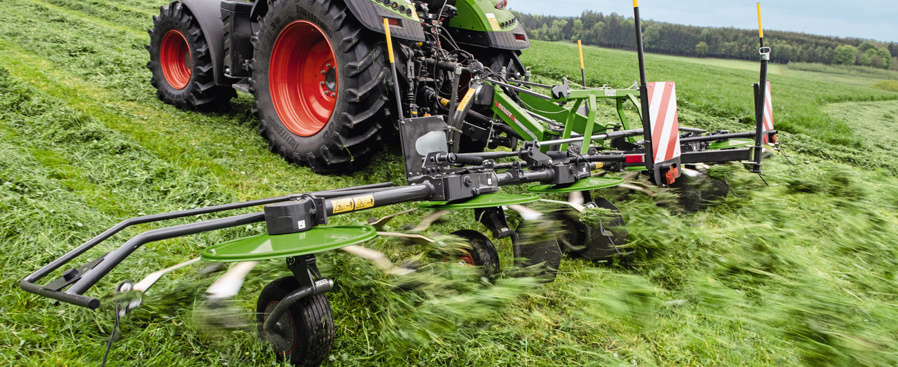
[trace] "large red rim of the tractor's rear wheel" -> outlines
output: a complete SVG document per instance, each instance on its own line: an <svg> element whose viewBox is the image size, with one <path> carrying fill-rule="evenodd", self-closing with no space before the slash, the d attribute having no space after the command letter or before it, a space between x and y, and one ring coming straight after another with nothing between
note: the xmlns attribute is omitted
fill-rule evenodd
<svg viewBox="0 0 898 367"><path fill-rule="evenodd" d="M337 104L337 58L321 28L296 21L277 35L269 87L280 121L294 134L312 136L327 125Z"/></svg>

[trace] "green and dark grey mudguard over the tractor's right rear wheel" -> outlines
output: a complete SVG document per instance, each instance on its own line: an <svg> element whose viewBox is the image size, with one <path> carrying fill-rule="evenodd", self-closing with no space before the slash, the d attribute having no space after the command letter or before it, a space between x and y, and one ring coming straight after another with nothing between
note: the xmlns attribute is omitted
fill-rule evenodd
<svg viewBox="0 0 898 367"><path fill-rule="evenodd" d="M457 0L458 16L449 20L453 39L490 49L528 49L530 39L521 22L508 9L497 9L499 0Z"/></svg>

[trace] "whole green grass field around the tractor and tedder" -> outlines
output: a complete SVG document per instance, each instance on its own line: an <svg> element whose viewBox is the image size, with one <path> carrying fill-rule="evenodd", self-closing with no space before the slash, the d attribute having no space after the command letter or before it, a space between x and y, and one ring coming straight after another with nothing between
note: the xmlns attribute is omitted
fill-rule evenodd
<svg viewBox="0 0 898 367"><path fill-rule="evenodd" d="M220 113L160 103L144 67L145 29L160 4L0 3L0 364L101 360L113 322L109 302L96 311L54 306L18 282L122 219L402 180L396 148L350 176L287 165L255 132L245 94ZM576 55L576 46L534 41L523 58L541 80L558 80L579 75ZM632 52L586 48L585 55L589 85L628 86L638 78ZM730 182L742 197L696 214L659 206L670 192L657 199L600 192L621 207L635 251L612 264L565 259L559 279L546 285L508 277L485 286L462 277L397 293L393 280L365 261L321 255L322 271L337 280L328 295L337 339L327 363L898 364L898 93L869 88L867 80L832 83L859 77L851 74L781 71L770 75L774 119L798 165L781 156L766 161L770 187L734 172ZM745 130L753 123L749 85L757 72L749 64L648 55L647 73L677 82L684 125ZM403 215L392 229L422 216ZM113 239L120 244L149 228ZM458 212L434 230L455 228L480 227ZM92 295L108 296L121 280L261 230L147 245ZM425 250L387 239L371 246L394 260ZM510 244L499 250L502 264L511 264ZM209 326L216 315L202 296L215 277L199 273L203 266L163 278L145 307L122 320L110 365L275 363L254 327ZM260 264L218 316L251 322L260 289L286 273L280 262Z"/></svg>

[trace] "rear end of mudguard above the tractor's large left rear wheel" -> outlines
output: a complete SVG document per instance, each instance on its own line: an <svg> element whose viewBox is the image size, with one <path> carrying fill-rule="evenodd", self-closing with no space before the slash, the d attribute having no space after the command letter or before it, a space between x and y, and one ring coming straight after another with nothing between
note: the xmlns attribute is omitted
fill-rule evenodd
<svg viewBox="0 0 898 367"><path fill-rule="evenodd" d="M346 7L368 30L383 33L383 18L387 18L391 23L398 22L391 24L392 38L418 42L425 40L424 28L418 20L415 5L408 0L346 0Z"/></svg>

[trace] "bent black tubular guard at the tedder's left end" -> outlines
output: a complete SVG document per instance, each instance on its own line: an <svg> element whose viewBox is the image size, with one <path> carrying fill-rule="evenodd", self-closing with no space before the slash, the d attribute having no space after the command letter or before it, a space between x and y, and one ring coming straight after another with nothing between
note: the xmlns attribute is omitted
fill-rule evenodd
<svg viewBox="0 0 898 367"><path fill-rule="evenodd" d="M370 190L391 186L392 183L373 183L356 187L309 193L321 195L324 197L339 196L358 190ZM106 239L112 237L116 233L119 233L119 231L121 231L122 229L134 226L136 224L152 223L166 219L191 217L200 214L214 213L225 210L249 208L258 205L266 205L275 202L294 200L303 197L304 195L306 194L292 194L269 199L234 202L230 204L216 205L206 208L180 210L170 213L154 214L125 219L112 228L107 229L97 237L91 238L83 245L75 247L75 249L69 251L68 253L66 253L66 255L62 255L50 264L44 265L37 272L31 273L30 275L26 276L25 279L22 280L22 282L19 282L19 285L22 287L22 290L30 291L31 293L35 293L40 296L48 297L53 300L63 301L66 303L71 303L89 309L96 309L100 307L100 300L84 296L84 292L89 290L93 286L93 284L99 282L103 276L105 276L113 268L118 266L123 260L125 260L126 257L128 257L128 255L134 253L134 251L140 246L167 238L194 235L210 230L231 228L260 222L265 220L264 213L260 211L250 214L225 217L221 219L211 219L196 223L183 224L180 226L149 230L128 239L128 241L123 245L106 253L105 255L101 255L100 257L92 260L87 264L81 265L78 268L69 268L62 274L61 277L57 278L56 280L48 282L45 285L40 285L38 284L38 282L40 282L40 280L46 277L49 273L53 273L72 260L75 260L75 258L83 255L94 246L101 244ZM68 289L63 291L63 289L66 287L68 287Z"/></svg>

